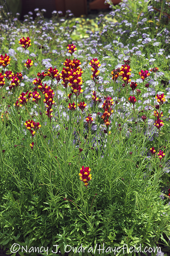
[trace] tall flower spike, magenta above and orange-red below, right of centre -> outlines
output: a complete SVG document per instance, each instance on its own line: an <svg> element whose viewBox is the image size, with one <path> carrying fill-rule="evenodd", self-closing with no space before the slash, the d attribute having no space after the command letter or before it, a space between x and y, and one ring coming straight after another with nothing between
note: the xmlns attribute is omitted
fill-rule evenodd
<svg viewBox="0 0 170 256"><path fill-rule="evenodd" d="M111 106L114 104L113 99L111 97L105 97L105 101L102 105L102 108L104 110L103 115L101 118L104 120L104 124L108 127L110 125L108 118L112 115L113 110Z"/></svg>

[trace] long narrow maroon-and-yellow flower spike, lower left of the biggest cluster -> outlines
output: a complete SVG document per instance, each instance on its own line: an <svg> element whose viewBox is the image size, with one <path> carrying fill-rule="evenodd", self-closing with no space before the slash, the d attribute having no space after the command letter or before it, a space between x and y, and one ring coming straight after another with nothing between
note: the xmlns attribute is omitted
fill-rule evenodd
<svg viewBox="0 0 170 256"><path fill-rule="evenodd" d="M53 97L54 97L54 92L53 92L53 89L51 89L50 86L47 86L45 84L45 90L43 91L43 94L45 95L45 99L44 99L44 103L46 103L46 108L47 108L47 111L45 112L46 115L50 118L51 120L51 117L53 117L53 109L52 109L52 105L55 103L55 101L53 100Z"/></svg>

